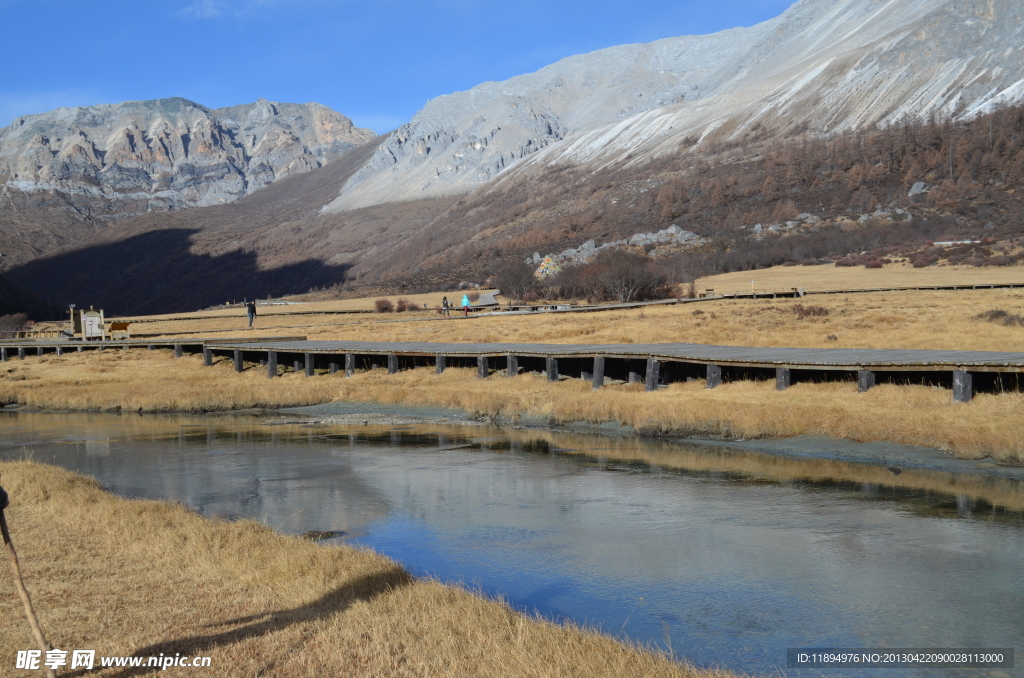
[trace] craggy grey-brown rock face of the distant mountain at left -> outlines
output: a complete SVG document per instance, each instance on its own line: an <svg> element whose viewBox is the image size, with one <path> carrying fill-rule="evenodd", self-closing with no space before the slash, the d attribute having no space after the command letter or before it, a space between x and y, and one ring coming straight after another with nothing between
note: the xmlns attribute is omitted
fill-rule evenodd
<svg viewBox="0 0 1024 678"><path fill-rule="evenodd" d="M181 209L236 201L374 137L319 103L259 99L212 111L169 98L57 109L0 129L0 180Z"/></svg>

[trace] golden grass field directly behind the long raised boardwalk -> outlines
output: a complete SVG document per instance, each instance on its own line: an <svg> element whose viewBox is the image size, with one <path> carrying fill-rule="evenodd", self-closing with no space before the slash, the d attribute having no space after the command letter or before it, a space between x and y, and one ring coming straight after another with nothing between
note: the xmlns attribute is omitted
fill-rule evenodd
<svg viewBox="0 0 1024 678"><path fill-rule="evenodd" d="M819 305L825 316L799 320L796 304ZM662 343L803 348L925 348L1024 350L1019 327L975 320L979 311L1004 308L1024 313L1024 290L881 292L821 295L805 299L719 299L589 313L439 319L426 313L260 316L254 330L245 319L172 321L136 326L145 332L234 329L208 336L302 335L349 341ZM698 312L699 311L699 312ZM417 322L385 322L401 319ZM835 337L835 339L829 339Z"/></svg>

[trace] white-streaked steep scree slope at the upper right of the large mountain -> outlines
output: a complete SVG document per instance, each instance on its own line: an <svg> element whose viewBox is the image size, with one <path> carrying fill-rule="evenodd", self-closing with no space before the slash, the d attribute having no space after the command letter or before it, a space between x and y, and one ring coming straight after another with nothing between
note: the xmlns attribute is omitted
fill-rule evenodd
<svg viewBox="0 0 1024 678"><path fill-rule="evenodd" d="M766 24L770 31L715 72L721 79L705 98L634 116L613 136L599 127L516 171L627 155L640 162L678 153L687 137L736 140L752 129L825 135L930 115L966 119L1024 100L1019 0L801 0Z"/></svg>

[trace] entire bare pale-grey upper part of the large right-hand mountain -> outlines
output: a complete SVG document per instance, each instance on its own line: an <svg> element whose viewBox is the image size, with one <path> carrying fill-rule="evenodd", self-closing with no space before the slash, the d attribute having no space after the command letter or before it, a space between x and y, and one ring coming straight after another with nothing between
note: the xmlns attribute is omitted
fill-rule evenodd
<svg viewBox="0 0 1024 678"><path fill-rule="evenodd" d="M970 117L1024 99L1022 48L1019 0L800 0L752 28L603 49L432 99L325 210L466 194L552 164Z"/></svg>

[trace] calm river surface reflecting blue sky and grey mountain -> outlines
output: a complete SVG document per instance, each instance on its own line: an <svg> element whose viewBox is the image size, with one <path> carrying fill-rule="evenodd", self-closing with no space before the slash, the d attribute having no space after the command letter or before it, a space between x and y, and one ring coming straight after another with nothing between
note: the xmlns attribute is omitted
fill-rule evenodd
<svg viewBox="0 0 1024 678"><path fill-rule="evenodd" d="M922 508L949 498L882 502L877 488L744 481L517 443L439 450L465 443L458 431L438 446L409 430L368 440L361 428L349 436L252 420L126 427L81 417L0 417L13 443L0 454L24 455L19 443L31 442L39 461L120 494L290 533L344 531L417 575L701 665L768 672L784 667L786 647L1012 647L1024 638L1020 520Z"/></svg>

